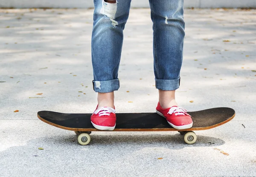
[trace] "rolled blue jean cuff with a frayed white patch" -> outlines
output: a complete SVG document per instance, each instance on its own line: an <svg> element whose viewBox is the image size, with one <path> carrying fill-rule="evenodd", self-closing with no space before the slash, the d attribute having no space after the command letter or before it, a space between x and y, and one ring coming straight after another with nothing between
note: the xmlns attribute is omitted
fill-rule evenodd
<svg viewBox="0 0 256 177"><path fill-rule="evenodd" d="M99 93L109 93L118 90L120 87L119 79L110 81L93 81L93 90Z"/></svg>

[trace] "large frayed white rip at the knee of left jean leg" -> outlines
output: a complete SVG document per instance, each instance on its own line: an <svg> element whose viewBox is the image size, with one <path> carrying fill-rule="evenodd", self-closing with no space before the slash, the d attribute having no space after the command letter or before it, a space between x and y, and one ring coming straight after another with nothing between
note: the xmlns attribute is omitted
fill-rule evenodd
<svg viewBox="0 0 256 177"><path fill-rule="evenodd" d="M102 15L109 17L113 27L118 25L117 21L115 20L117 3L117 0L102 0L102 9L100 11Z"/></svg>

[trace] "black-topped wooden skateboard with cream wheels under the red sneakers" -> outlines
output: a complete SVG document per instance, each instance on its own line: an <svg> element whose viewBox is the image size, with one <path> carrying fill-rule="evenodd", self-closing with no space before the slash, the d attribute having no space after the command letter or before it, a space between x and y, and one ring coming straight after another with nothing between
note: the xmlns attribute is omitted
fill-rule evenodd
<svg viewBox="0 0 256 177"><path fill-rule="evenodd" d="M235 110L229 107L217 107L207 110L188 112L192 116L193 126L189 129L172 128L166 119L157 113L116 113L116 128L113 131L178 131L187 144L194 144L197 136L193 131L207 130L223 125L235 117ZM38 118L43 122L75 131L80 145L90 142L92 131L101 131L90 122L91 113L57 113L39 111Z"/></svg>

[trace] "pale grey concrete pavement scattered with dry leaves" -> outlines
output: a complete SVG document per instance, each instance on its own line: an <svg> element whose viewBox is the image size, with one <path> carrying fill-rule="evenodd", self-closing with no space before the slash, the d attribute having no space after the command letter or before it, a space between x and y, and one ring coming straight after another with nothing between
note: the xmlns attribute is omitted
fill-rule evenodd
<svg viewBox="0 0 256 177"><path fill-rule="evenodd" d="M90 145L81 146L74 132L37 118L40 110L95 109L92 15L93 9L0 9L0 177L256 176L255 10L185 10L177 102L189 111L236 110L231 122L196 131L194 145L176 132L93 132ZM154 111L149 9L131 9L119 78L117 112Z"/></svg>

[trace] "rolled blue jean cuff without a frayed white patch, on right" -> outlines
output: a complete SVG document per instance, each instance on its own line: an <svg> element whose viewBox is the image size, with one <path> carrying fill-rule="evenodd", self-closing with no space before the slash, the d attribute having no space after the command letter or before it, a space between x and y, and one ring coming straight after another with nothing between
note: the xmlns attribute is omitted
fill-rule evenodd
<svg viewBox="0 0 256 177"><path fill-rule="evenodd" d="M156 88L159 90L177 90L180 87L180 77L177 79L156 79Z"/></svg>

